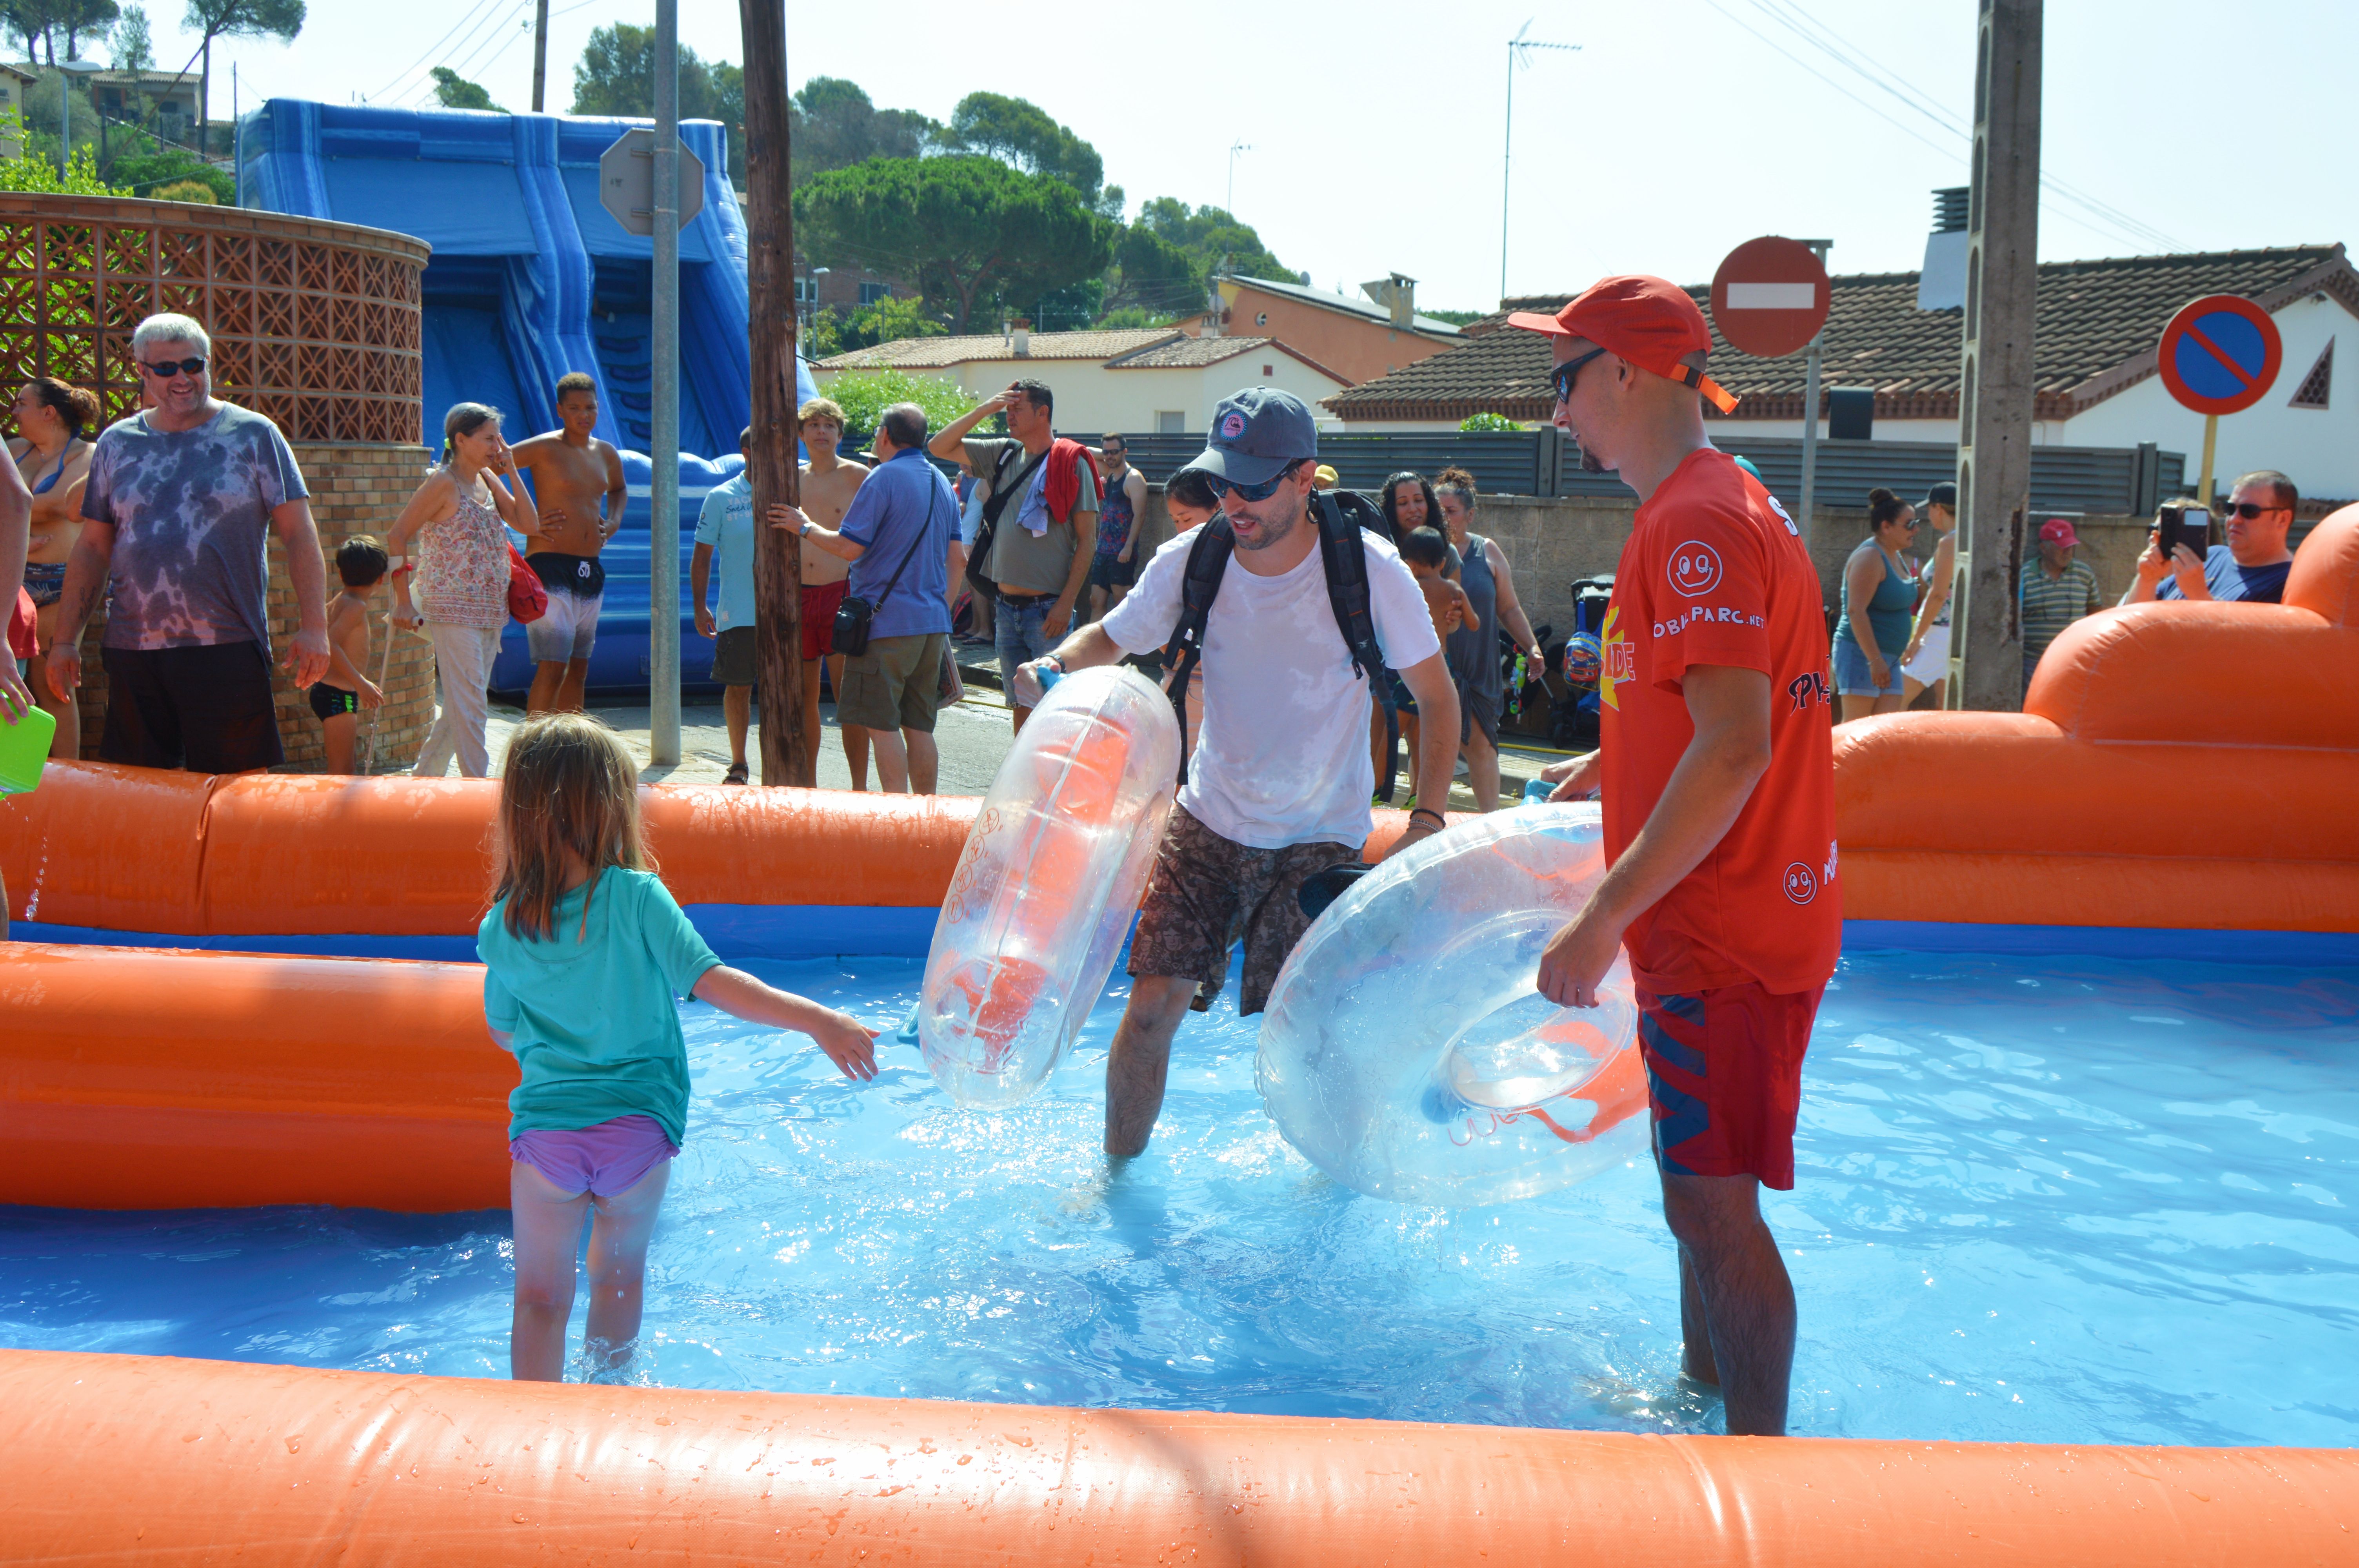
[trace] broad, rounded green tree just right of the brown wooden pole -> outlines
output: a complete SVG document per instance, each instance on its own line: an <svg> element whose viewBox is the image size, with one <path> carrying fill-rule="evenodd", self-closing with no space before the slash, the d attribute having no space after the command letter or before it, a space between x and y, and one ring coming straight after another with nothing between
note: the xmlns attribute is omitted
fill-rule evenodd
<svg viewBox="0 0 2359 1568"><path fill-rule="evenodd" d="M1113 224L1052 174L995 158L870 158L795 191L795 238L823 266L913 278L951 328L979 307L1031 302L1113 262Z"/></svg>

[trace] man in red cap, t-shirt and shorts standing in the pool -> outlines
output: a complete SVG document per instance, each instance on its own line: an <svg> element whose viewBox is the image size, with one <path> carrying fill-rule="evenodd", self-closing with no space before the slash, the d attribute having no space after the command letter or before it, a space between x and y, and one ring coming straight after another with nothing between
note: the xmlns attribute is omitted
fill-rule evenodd
<svg viewBox="0 0 2359 1568"><path fill-rule="evenodd" d="M1713 450L1687 290L1604 278L1557 316L1557 427L1640 493L1604 620L1602 731L1557 797L1602 790L1611 870L1550 941L1540 990L1637 983L1663 1219L1680 1243L1687 1375L1732 1434L1786 1431L1793 1283L1760 1188L1793 1188L1802 1049L1842 948L1819 575L1786 509Z"/></svg>

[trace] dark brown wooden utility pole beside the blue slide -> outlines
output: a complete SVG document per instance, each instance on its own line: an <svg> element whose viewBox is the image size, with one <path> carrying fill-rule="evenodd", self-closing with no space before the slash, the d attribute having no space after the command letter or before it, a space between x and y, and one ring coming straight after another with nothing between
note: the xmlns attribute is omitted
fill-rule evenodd
<svg viewBox="0 0 2359 1568"><path fill-rule="evenodd" d="M753 332L753 601L762 783L819 783L802 740L802 545L771 502L802 505L795 472L795 179L786 116L786 0L738 0L745 31L745 304Z"/></svg>

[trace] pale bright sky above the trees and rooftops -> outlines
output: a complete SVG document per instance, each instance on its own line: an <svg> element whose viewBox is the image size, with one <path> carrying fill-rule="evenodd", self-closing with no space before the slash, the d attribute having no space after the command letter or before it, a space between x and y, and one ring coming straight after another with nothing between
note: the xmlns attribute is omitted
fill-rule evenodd
<svg viewBox="0 0 2359 1568"><path fill-rule="evenodd" d="M165 68L193 45L175 47L177 9L149 7ZM616 0L552 0L552 14L559 111L592 26L653 21L651 5ZM743 59L731 0L682 0L679 14L698 54ZM1703 281L1755 233L1833 238L1835 271L1904 271L1923 257L1930 191L1965 184L1965 139L1941 123L1972 106L1972 0L1033 14L1017 28L1003 7L797 2L788 71L797 85L847 75L885 108L934 118L979 87L1029 97L1104 153L1132 203L1227 200L1229 146L1248 141L1236 210L1283 262L1321 288L1399 269L1427 307L1498 299L1505 40L1526 17L1533 38L1583 50L1517 78L1510 292L1606 271ZM231 61L248 106L420 101L425 68L451 64L524 108L528 21L531 0L311 0L293 47L215 47L215 113L229 113ZM2352 0L2052 0L2043 167L2118 217L2050 191L2041 255L2170 248L2156 233L2199 250L2359 238L2359 179L2335 134L2352 59Z"/></svg>

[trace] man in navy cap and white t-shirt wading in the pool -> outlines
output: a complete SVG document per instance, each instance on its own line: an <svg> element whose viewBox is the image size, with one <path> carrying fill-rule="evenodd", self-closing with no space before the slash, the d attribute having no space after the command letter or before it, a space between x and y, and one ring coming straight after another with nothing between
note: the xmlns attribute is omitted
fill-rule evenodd
<svg viewBox="0 0 2359 1568"><path fill-rule="evenodd" d="M1045 672L1165 648L1182 622L1198 535L1234 540L1203 618L1203 726L1130 938L1130 1004L1106 1059L1106 1153L1116 1158L1146 1148L1172 1035L1196 986L1217 990L1229 979L1229 931L1246 934L1238 1012L1257 1014L1309 927L1302 882L1356 861L1375 825L1368 677L1382 672L1361 670L1338 620L1323 512L1312 509L1316 462L1319 431L1300 398L1248 387L1222 401L1210 446L1189 465L1210 476L1220 514L1165 542L1102 622L1017 670L1017 700L1036 703ZM1458 689L1425 594L1392 545L1342 533L1342 547L1366 561L1378 663L1399 670L1430 714L1420 776L1448 778ZM1439 830L1441 813L1420 809L1399 846Z"/></svg>

